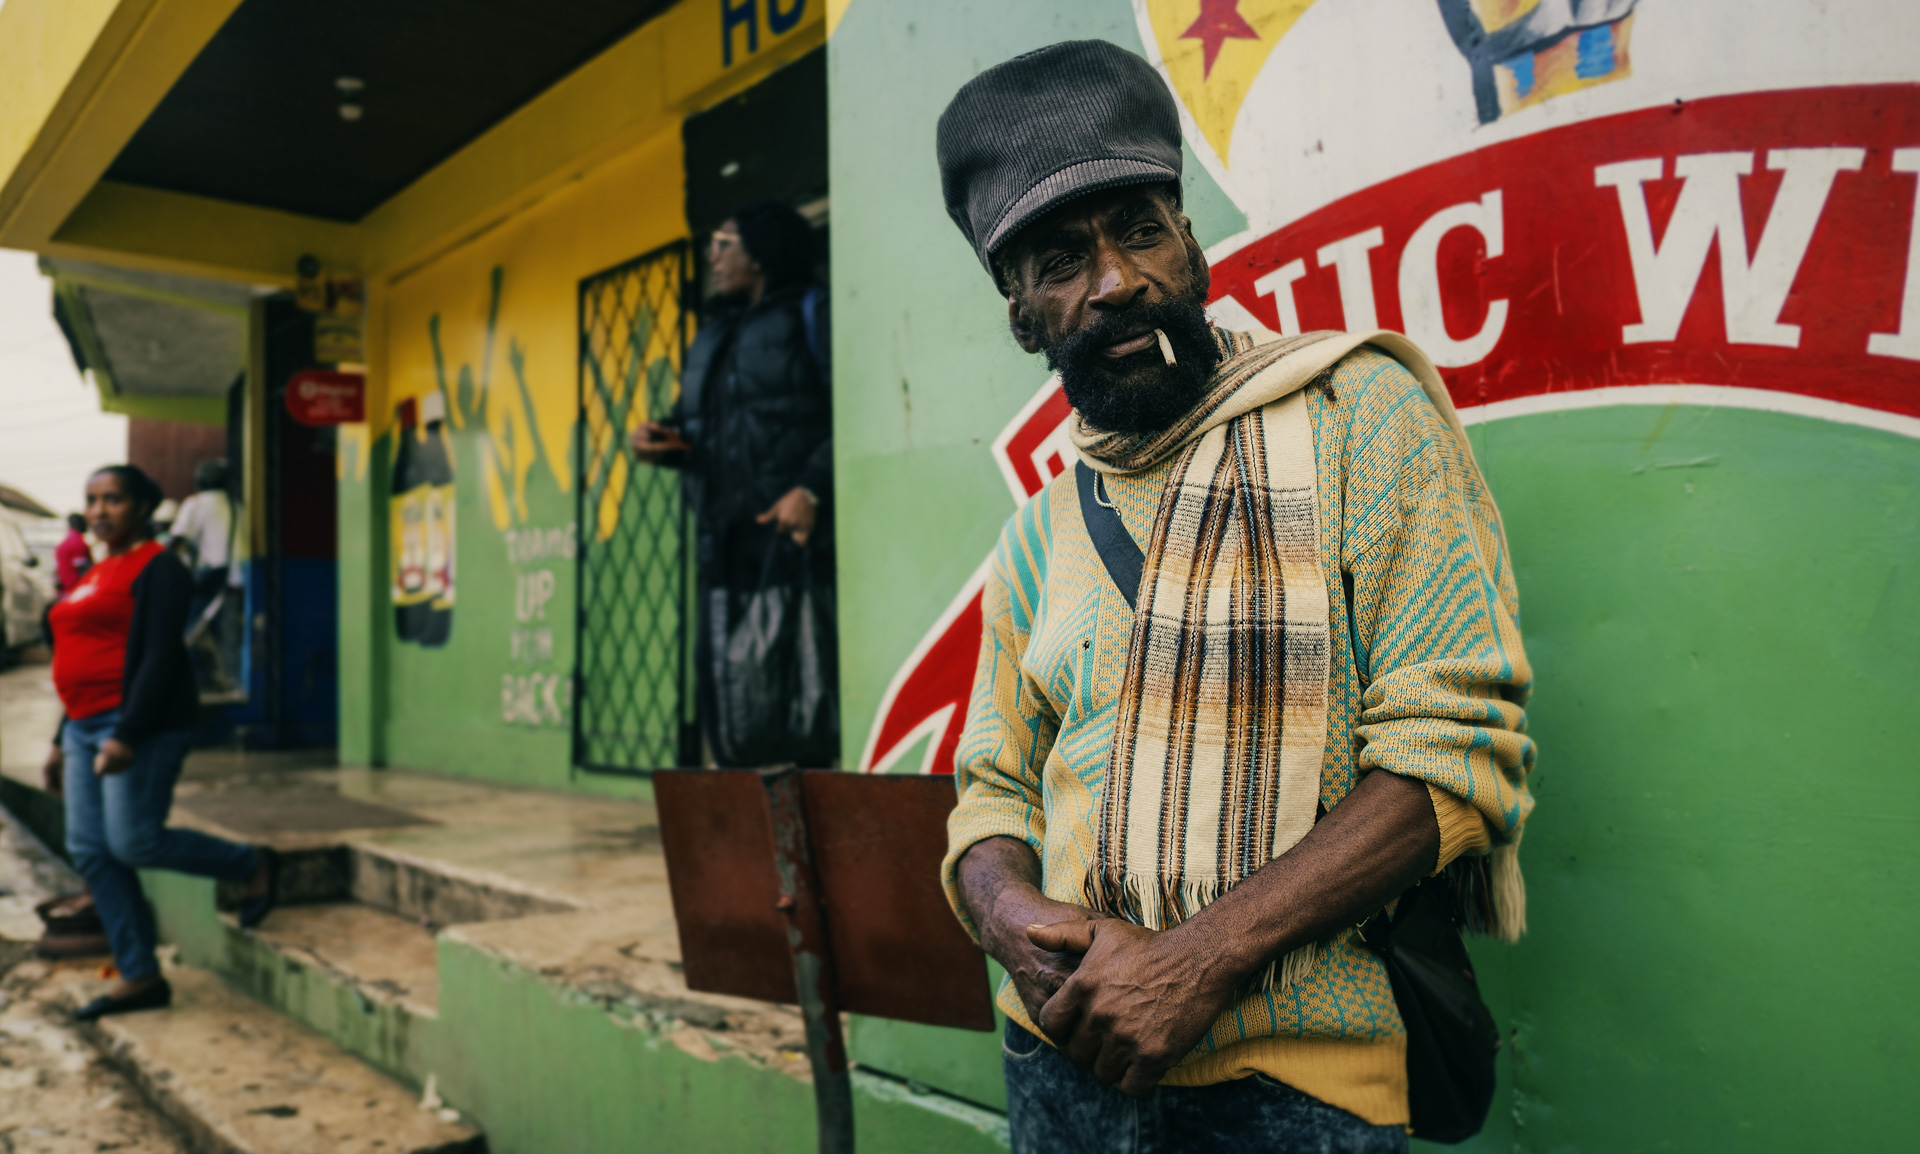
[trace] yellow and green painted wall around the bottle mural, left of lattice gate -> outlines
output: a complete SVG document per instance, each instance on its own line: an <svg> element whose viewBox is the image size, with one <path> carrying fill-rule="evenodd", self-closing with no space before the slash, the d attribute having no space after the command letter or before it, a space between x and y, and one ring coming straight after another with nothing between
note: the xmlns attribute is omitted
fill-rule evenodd
<svg viewBox="0 0 1920 1154"><path fill-rule="evenodd" d="M634 789L570 770L578 300L584 278L685 236L684 190L676 123L444 255L372 278L371 422L342 430L342 666L369 670L365 689L342 680L344 755ZM422 647L394 632L392 551L376 538L409 436L396 411L440 390L457 597L451 639ZM622 449L603 449L624 469Z"/></svg>

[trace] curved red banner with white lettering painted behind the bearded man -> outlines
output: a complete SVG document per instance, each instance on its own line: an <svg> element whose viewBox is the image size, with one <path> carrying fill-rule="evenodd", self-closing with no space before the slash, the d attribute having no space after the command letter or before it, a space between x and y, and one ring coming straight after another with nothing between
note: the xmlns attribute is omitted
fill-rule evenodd
<svg viewBox="0 0 1920 1154"><path fill-rule="evenodd" d="M1469 422L1619 403L1920 436L1920 84L1594 117L1382 180L1213 261L1227 326L1394 328ZM1016 501L1068 463L1043 388L995 440ZM983 563L881 699L860 770L952 772Z"/></svg>

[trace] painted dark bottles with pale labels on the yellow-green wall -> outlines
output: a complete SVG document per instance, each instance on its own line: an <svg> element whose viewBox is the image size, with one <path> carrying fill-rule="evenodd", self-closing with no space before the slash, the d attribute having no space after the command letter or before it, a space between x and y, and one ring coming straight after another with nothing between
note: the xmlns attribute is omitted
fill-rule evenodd
<svg viewBox="0 0 1920 1154"><path fill-rule="evenodd" d="M453 636L455 492L447 403L403 401L394 459L394 632L426 649Z"/></svg>

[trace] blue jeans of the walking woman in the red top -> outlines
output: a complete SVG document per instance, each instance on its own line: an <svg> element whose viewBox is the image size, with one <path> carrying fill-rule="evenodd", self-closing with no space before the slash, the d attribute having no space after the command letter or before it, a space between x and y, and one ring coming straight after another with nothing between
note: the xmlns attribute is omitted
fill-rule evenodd
<svg viewBox="0 0 1920 1154"><path fill-rule="evenodd" d="M121 977L138 981L159 974L159 960L154 958L159 937L136 870L246 881L259 866L259 851L167 828L173 783L180 780L192 733L154 733L134 747L125 774L94 774L94 755L117 724L117 709L67 722L61 743L67 755L67 854L94 895L113 964Z"/></svg>

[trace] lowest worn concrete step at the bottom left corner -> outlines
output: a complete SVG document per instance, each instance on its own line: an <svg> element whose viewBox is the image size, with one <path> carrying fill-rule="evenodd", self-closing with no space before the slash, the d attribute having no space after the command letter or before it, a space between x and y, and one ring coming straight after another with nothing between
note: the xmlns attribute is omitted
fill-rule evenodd
<svg viewBox="0 0 1920 1154"><path fill-rule="evenodd" d="M86 1027L207 1154L484 1154L486 1139L321 1035L192 966L171 966L173 1006ZM73 1002L98 983L77 981Z"/></svg>

